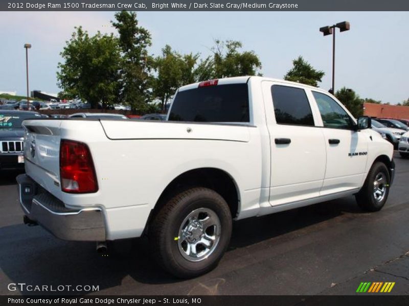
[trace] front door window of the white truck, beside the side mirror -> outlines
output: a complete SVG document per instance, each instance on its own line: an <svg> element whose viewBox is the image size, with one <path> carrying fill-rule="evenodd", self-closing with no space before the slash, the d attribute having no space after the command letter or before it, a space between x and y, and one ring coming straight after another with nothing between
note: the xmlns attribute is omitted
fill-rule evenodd
<svg viewBox="0 0 409 306"><path fill-rule="evenodd" d="M326 94L313 91L325 127L332 129L351 129L354 124L347 112Z"/></svg>

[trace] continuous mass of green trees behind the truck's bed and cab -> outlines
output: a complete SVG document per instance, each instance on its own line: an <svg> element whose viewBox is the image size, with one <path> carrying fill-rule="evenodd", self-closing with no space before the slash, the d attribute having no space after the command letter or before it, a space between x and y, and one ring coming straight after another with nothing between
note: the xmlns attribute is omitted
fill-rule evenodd
<svg viewBox="0 0 409 306"><path fill-rule="evenodd" d="M215 41L213 55L181 55L169 45L162 55L148 54L151 35L138 25L134 12L121 11L111 21L118 36L89 36L75 28L61 52L58 64L60 98L80 98L93 108L98 103L125 103L133 112L165 110L166 104L180 86L214 78L239 75L261 75L261 62L254 51L244 51L239 41ZM160 100L160 105L152 100ZM160 109L158 109L160 107Z"/></svg>

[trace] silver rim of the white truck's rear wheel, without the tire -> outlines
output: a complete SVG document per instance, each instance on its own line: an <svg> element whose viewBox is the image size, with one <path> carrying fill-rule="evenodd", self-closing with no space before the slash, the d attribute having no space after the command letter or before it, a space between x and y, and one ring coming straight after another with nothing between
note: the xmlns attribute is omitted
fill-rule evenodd
<svg viewBox="0 0 409 306"><path fill-rule="evenodd" d="M191 262L208 258L220 240L221 224L209 208L199 208L186 216L179 228L177 245L180 254Z"/></svg>

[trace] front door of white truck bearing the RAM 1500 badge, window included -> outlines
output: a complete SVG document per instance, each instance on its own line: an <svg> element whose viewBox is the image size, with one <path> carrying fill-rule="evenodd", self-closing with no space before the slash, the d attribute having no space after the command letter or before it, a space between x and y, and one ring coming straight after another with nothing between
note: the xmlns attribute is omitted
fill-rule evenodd
<svg viewBox="0 0 409 306"><path fill-rule="evenodd" d="M311 90L323 121L327 167L320 194L359 188L365 179L369 135L354 130L354 121L330 95Z"/></svg>

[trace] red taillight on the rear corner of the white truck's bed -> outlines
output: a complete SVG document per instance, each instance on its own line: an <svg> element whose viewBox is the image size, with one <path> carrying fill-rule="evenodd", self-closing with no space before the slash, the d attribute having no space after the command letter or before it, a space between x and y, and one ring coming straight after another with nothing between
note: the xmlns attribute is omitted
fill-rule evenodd
<svg viewBox="0 0 409 306"><path fill-rule="evenodd" d="M61 189L64 192L98 191L93 159L85 143L61 140L60 177Z"/></svg>

